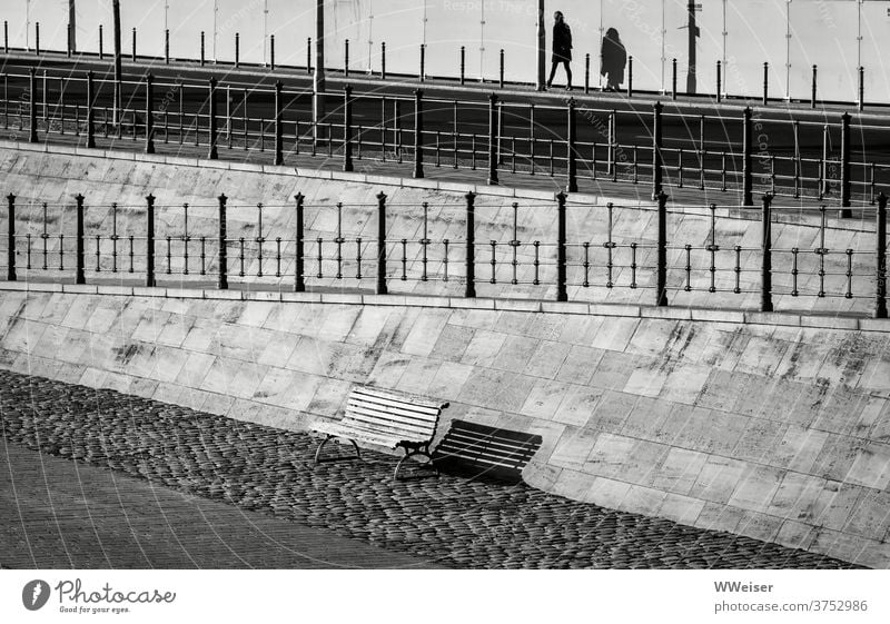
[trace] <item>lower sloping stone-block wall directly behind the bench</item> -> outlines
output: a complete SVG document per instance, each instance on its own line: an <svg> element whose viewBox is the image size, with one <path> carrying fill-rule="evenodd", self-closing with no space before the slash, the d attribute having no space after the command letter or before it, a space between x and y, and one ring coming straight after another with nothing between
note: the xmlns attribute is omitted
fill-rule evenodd
<svg viewBox="0 0 890 624"><path fill-rule="evenodd" d="M890 324L6 284L0 366L294 429L354 384L536 433L528 483L890 565ZM245 297L248 300L245 300Z"/></svg>

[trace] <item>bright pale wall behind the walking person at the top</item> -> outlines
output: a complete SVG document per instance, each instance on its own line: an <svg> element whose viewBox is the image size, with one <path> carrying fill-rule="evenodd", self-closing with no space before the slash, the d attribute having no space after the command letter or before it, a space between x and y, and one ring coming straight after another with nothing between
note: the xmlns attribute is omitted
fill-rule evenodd
<svg viewBox="0 0 890 624"><path fill-rule="evenodd" d="M111 1L76 0L77 44L98 50L98 27L111 49ZM137 29L140 55L161 56L164 29L170 30L170 53L197 58L206 33L208 59L230 61L235 33L244 61L268 62L275 37L276 62L306 63L307 39L315 36L315 0L121 0L122 46L131 50ZM668 90L672 59L678 83L685 89L689 70L689 11L685 0L546 0L547 37L553 11L561 10L574 37L575 82L584 80L584 57L591 56L591 82L601 85L599 51L603 32L615 28L633 57L637 89ZM426 44L426 71L454 77L459 50L466 48L466 76L496 79L505 55L507 80L535 78L537 0L327 0L325 53L329 67L356 71L380 68L386 43L389 72L416 73L419 47ZM812 66L819 68L819 95L854 100L859 66L864 67L866 98L890 102L890 0L701 0L695 12L698 91L713 92L716 61L723 66L729 95L762 93L764 61L773 97L808 98ZM0 0L0 19L9 22L12 47L34 46L40 22L41 47L63 50L68 0Z"/></svg>

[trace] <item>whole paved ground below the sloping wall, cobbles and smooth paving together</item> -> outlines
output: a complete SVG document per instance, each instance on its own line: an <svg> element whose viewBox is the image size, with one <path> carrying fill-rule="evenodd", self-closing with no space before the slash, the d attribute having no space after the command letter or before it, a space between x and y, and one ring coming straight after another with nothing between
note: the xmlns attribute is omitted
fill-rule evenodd
<svg viewBox="0 0 890 624"><path fill-rule="evenodd" d="M0 372L0 566L838 568L821 555Z"/></svg>

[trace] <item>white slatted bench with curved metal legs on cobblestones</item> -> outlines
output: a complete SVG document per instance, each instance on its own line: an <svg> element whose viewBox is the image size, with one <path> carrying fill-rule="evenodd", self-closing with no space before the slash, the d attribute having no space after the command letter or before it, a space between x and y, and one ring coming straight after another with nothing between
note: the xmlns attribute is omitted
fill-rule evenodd
<svg viewBox="0 0 890 624"><path fill-rule="evenodd" d="M396 465L394 477L398 479L402 465L415 455L425 455L427 465L435 468L429 455L429 443L436 433L438 416L447 403L384 390L369 386L356 386L346 400L342 420L317 423L313 430L325 434L325 439L315 452L315 463L337 459L360 459L357 443L375 444L387 448L403 448L405 456ZM322 448L332 438L348 439L355 447L355 456L322 458Z"/></svg>

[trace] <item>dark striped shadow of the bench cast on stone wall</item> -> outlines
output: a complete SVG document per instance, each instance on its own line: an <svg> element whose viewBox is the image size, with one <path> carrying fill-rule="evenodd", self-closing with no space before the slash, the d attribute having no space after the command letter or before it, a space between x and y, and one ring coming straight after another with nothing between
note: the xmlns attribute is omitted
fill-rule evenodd
<svg viewBox="0 0 890 624"><path fill-rule="evenodd" d="M540 435L453 420L436 446L433 463L469 477L507 483L522 481L522 469L541 448Z"/></svg>

